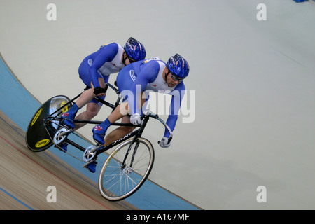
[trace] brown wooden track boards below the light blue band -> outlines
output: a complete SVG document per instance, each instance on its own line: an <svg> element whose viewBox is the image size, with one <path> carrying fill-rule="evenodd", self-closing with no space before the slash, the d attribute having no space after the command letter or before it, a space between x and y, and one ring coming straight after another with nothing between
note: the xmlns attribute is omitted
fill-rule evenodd
<svg viewBox="0 0 315 224"><path fill-rule="evenodd" d="M25 132L0 111L0 209L135 210L132 204L109 202L76 169L50 151L34 153ZM48 202L48 186L56 188L56 202Z"/></svg>

